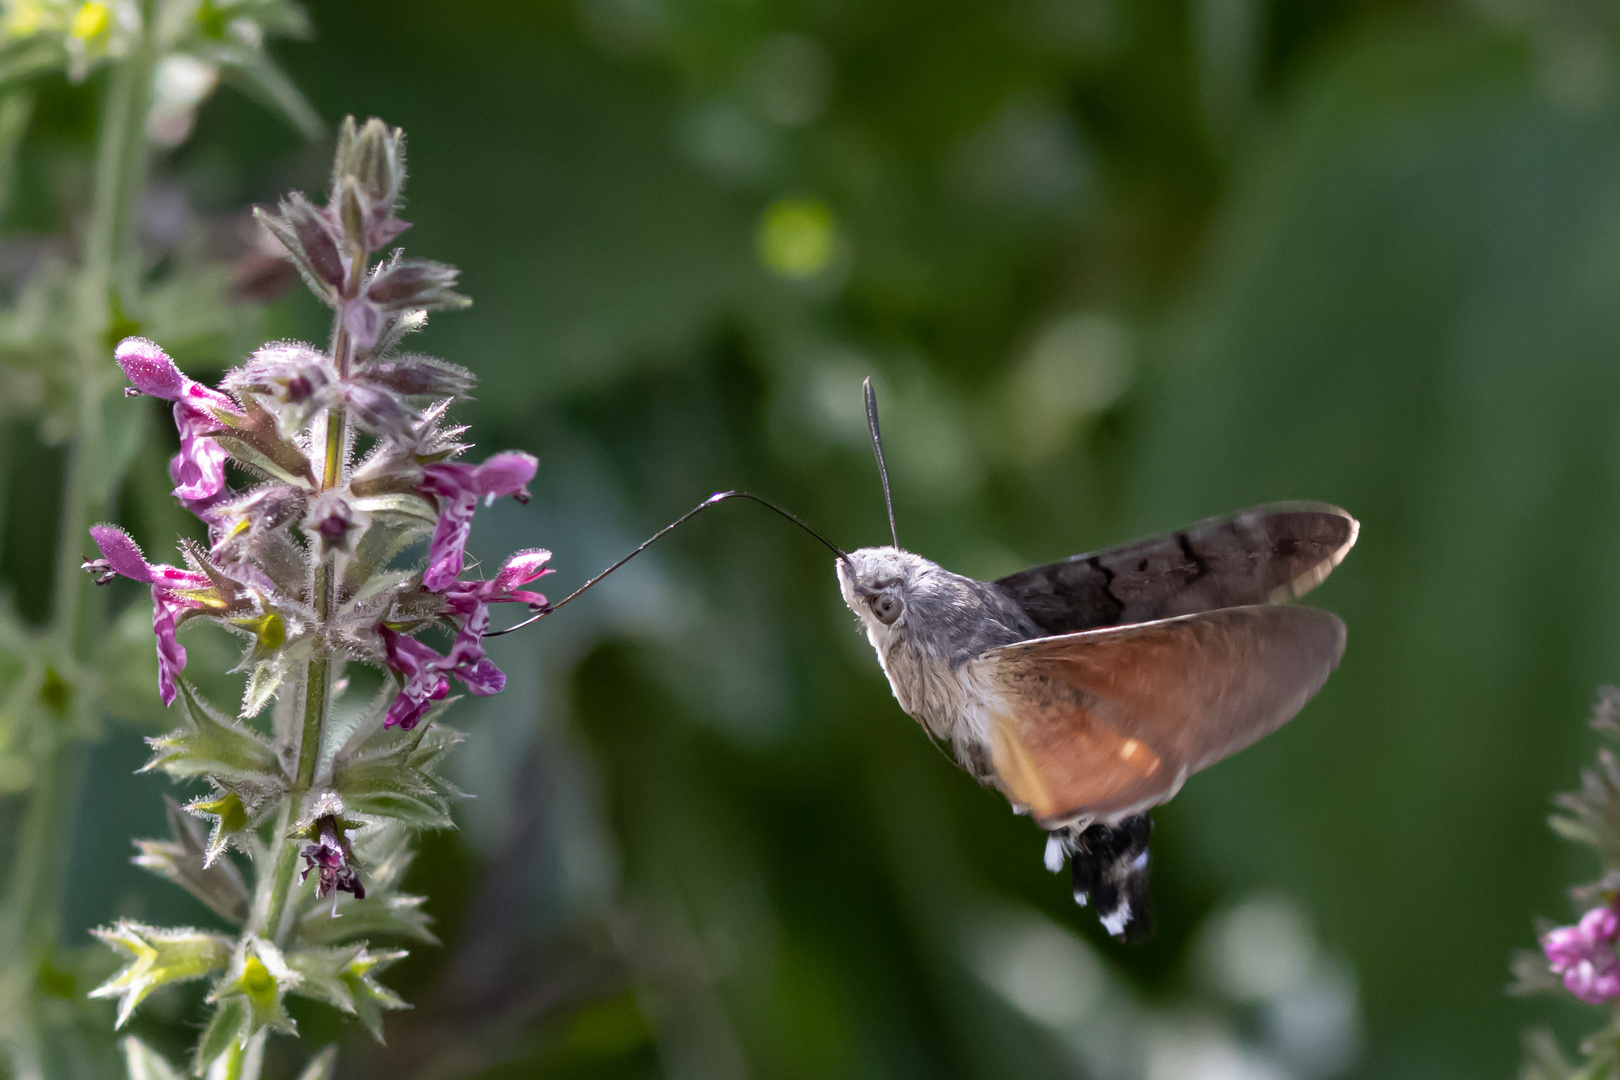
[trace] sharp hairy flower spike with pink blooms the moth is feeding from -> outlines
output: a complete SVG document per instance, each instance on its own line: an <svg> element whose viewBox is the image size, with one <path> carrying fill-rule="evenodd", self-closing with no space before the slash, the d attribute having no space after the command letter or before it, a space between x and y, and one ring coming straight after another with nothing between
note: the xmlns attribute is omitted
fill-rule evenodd
<svg viewBox="0 0 1620 1080"><path fill-rule="evenodd" d="M173 844L141 845L165 860L164 876L246 925L235 938L131 920L100 928L97 938L128 960L91 996L120 999L123 1023L154 986L211 978L199 1075L256 1080L266 1033L295 1033L288 996L353 1009L379 1040L382 1014L407 1007L376 981L405 952L369 939L431 941L421 897L399 892L399 874L415 832L452 824L457 792L436 766L458 737L436 722L439 703L452 680L480 696L505 687L483 649L492 606L548 606L522 586L548 573L551 552L520 551L492 578L462 576L473 512L504 495L526 500L536 460L454 460L468 449L465 427L444 416L471 390L471 372L397 350L429 311L468 304L452 266L395 253L368 267L371 251L407 228L395 215L403 183L403 133L348 118L329 202L293 193L258 212L334 309L327 348L272 342L217 389L185 376L157 342L128 337L115 350L136 393L175 403L175 494L209 528L207 547L181 544L185 567L149 562L113 525L91 529L100 557L84 570L96 581L151 586L159 695L180 706L180 727L149 740L152 766L212 785L186 806L214 819L207 852L183 844L193 834L185 824ZM360 463L356 437L369 440ZM228 460L267 476L240 491L227 483ZM428 541L420 565L395 565L416 539ZM237 724L183 678L177 631L193 620L249 638ZM454 630L447 653L416 636L439 625ZM390 693L335 740L345 661L381 669ZM266 735L249 721L271 699ZM253 857L251 895L230 873L228 847ZM356 918L321 918L345 910ZM330 1056L321 1061L313 1069L329 1070Z"/></svg>

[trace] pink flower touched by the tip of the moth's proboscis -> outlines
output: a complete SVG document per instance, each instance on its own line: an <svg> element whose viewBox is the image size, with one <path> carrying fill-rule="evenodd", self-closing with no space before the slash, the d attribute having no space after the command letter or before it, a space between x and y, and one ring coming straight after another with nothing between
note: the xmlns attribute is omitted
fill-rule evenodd
<svg viewBox="0 0 1620 1080"><path fill-rule="evenodd" d="M447 656L439 656L433 646L416 638L377 627L384 661L402 677L400 691L382 721L384 727L400 727L407 732L416 727L433 703L442 701L450 693L449 675L458 678L468 693L481 698L505 688L505 672L484 656L483 640L489 630L489 606L544 607L544 596L517 586L551 573L544 568L548 559L551 559L549 551L538 547L520 551L488 581L452 583L444 593L446 607L463 619Z"/></svg>

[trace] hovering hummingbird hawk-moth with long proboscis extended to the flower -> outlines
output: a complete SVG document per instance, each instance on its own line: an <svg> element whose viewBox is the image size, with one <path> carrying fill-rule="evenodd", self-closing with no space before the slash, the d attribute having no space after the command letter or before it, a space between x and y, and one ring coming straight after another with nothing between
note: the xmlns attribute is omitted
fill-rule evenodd
<svg viewBox="0 0 1620 1080"><path fill-rule="evenodd" d="M1338 667L1345 623L1288 601L1327 578L1361 526L1338 507L1278 502L966 578L899 546L870 379L865 402L893 546L846 552L760 495L718 492L526 622L719 502L766 505L838 555L839 591L901 709L1047 831L1047 866L1069 863L1074 899L1110 934L1145 936L1147 811L1291 721Z"/></svg>

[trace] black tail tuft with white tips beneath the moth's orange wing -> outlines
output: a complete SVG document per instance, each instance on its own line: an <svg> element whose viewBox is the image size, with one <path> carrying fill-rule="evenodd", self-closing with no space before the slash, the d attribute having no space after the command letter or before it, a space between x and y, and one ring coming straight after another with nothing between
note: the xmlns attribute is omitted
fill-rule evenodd
<svg viewBox="0 0 1620 1080"><path fill-rule="evenodd" d="M1068 855L1074 902L1090 904L1115 938L1142 941L1153 933L1147 853L1152 832L1147 814L1131 814L1119 824L1064 826L1047 837L1047 868L1063 870Z"/></svg>

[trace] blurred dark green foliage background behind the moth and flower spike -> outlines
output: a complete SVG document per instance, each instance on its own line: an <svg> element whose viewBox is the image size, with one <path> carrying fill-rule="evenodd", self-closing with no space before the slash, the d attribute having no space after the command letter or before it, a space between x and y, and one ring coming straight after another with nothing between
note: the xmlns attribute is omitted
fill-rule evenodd
<svg viewBox="0 0 1620 1080"><path fill-rule="evenodd" d="M1594 873L1544 821L1620 680L1614 5L311 15L279 57L329 121L407 130L411 251L476 301L424 348L480 374L484 452L541 460L471 551L551 547L554 596L723 487L883 542L867 374L901 541L962 573L1273 499L1362 521L1312 597L1343 667L1155 814L1160 933L1121 947L899 711L826 554L705 515L496 646L509 690L452 717L476 798L411 871L444 939L390 975L416 1009L386 1051L300 1014L342 1072L1473 1078L1591 1023L1503 988ZM47 105L45 149L84 110ZM222 94L160 193L230 214L327 155ZM57 183L24 160L13 228ZM326 334L305 296L269 322ZM10 439L26 610L52 466ZM175 525L133 517L149 551ZM125 861L162 821L141 733L89 763L70 944L209 918ZM136 1027L178 1054L194 1022Z"/></svg>

